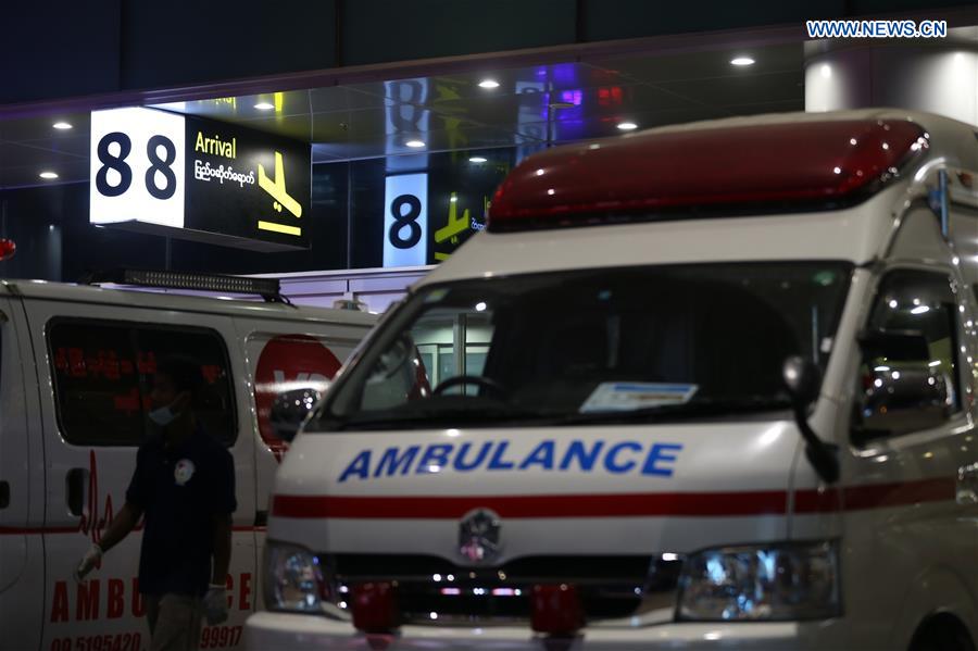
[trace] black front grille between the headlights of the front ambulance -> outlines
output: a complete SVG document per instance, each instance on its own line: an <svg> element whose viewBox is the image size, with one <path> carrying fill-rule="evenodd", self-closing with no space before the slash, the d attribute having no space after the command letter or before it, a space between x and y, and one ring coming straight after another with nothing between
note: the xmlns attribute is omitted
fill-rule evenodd
<svg viewBox="0 0 978 651"><path fill-rule="evenodd" d="M535 585L577 588L588 622L650 614L672 618L681 561L651 556L524 556L494 567L463 567L425 555L323 555L336 602L346 606L350 586L397 585L405 624L491 625L530 617Z"/></svg>

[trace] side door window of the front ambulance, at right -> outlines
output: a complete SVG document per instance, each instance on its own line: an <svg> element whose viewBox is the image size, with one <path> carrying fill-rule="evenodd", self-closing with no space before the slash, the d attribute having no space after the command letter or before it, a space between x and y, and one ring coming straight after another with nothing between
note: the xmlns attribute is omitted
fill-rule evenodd
<svg viewBox="0 0 978 651"><path fill-rule="evenodd" d="M956 323L946 275L901 270L882 279L863 342L861 429L919 431L961 410Z"/></svg>

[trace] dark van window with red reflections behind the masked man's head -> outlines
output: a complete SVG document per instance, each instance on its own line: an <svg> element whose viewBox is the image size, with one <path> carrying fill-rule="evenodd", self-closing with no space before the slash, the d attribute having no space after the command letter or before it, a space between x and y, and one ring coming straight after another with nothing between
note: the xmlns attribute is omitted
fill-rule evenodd
<svg viewBox="0 0 978 651"><path fill-rule="evenodd" d="M57 320L48 346L58 421L70 443L141 443L156 362L170 354L200 362L204 386L195 411L204 430L228 446L237 437L227 351L213 330Z"/></svg>

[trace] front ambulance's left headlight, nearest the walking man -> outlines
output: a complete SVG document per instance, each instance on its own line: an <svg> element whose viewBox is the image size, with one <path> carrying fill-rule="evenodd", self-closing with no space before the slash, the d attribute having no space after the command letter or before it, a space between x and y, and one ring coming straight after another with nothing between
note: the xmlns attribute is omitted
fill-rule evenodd
<svg viewBox="0 0 978 651"><path fill-rule="evenodd" d="M317 613L329 597L319 559L294 544L265 544L264 584L269 610Z"/></svg>

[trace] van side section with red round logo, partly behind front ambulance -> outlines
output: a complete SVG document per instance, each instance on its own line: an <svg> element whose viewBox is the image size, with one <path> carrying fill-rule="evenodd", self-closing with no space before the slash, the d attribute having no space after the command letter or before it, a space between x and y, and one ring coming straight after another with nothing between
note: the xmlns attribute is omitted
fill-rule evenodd
<svg viewBox="0 0 978 651"><path fill-rule="evenodd" d="M269 421L278 393L302 388L325 390L341 363L366 336L369 327L352 324L322 324L312 321L236 320L244 342L244 358L253 384L251 426L255 441L255 549L259 564L255 594L262 600L262 550L268 500L275 471L288 443L279 439ZM255 604L261 609L261 603Z"/></svg>

